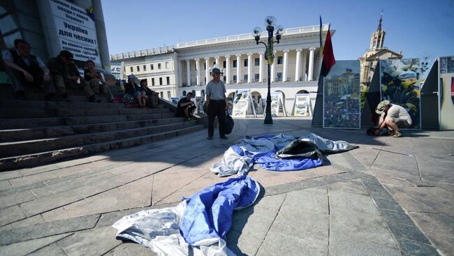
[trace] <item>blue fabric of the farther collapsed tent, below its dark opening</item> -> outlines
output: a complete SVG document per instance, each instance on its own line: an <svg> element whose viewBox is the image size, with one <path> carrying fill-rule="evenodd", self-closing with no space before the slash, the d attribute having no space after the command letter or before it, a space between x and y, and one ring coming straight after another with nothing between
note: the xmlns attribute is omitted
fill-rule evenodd
<svg viewBox="0 0 454 256"><path fill-rule="evenodd" d="M265 170L286 172L318 167L323 164L323 161L320 158L281 159L277 158L275 152L270 152L258 158L256 163Z"/></svg>

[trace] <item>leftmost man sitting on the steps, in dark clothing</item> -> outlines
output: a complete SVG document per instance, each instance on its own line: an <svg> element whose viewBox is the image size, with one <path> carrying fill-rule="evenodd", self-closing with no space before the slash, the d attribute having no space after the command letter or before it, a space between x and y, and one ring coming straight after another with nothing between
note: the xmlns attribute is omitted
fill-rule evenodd
<svg viewBox="0 0 454 256"><path fill-rule="evenodd" d="M10 77L15 97L25 100L24 86L44 86L46 100L55 94L55 87L50 77L50 71L45 63L30 54L31 46L22 39L14 40L13 50L2 50L1 57L6 74Z"/></svg>

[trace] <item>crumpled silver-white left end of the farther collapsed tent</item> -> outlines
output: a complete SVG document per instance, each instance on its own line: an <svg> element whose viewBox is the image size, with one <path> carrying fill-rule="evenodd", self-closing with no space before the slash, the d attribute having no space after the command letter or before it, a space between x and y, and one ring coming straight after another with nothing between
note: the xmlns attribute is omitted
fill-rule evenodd
<svg viewBox="0 0 454 256"><path fill-rule="evenodd" d="M242 152L239 152L230 146L226 152L224 152L221 162L215 163L210 168L211 172L220 177L233 174L237 174L238 176L247 174L254 163L252 163L251 156L245 156L244 153L240 155L240 153Z"/></svg>

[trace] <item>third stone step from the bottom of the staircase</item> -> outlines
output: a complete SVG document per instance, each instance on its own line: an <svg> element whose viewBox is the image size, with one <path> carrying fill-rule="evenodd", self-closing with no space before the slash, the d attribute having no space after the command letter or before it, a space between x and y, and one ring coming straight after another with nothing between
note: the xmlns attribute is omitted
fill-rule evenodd
<svg viewBox="0 0 454 256"><path fill-rule="evenodd" d="M168 112L150 113L143 110L142 114L111 114L103 116L65 116L65 117L36 117L36 118L17 118L0 119L0 129L25 129L39 128L47 126L76 126L88 123L113 123L122 121L139 121L147 119L166 119L175 117L175 113Z"/></svg>

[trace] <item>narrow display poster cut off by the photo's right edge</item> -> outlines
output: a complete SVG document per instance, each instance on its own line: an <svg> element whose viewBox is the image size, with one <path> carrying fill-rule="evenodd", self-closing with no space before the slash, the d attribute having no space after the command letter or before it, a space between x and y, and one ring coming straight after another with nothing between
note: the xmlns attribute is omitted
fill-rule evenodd
<svg viewBox="0 0 454 256"><path fill-rule="evenodd" d="M439 58L440 130L454 129L454 56Z"/></svg>

